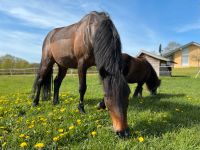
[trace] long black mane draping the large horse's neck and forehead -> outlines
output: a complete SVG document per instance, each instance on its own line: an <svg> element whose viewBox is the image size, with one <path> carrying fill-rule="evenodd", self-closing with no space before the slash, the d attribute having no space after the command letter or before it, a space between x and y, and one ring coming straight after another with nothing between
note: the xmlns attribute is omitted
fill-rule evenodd
<svg viewBox="0 0 200 150"><path fill-rule="evenodd" d="M129 95L130 89L122 74L120 37L109 17L101 22L95 33L94 56L101 79L105 80L105 94L116 98Z"/></svg>

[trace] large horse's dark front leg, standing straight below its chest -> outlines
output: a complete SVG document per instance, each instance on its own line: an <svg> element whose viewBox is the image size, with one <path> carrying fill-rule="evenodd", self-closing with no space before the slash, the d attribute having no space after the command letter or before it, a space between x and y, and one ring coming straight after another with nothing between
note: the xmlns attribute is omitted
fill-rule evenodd
<svg viewBox="0 0 200 150"><path fill-rule="evenodd" d="M84 100L85 91L87 89L86 73L87 73L87 67L85 66L84 62L80 62L78 64L79 94L80 94L80 101L79 101L79 105L78 105L78 110L81 113L82 112L85 113L83 100Z"/></svg>

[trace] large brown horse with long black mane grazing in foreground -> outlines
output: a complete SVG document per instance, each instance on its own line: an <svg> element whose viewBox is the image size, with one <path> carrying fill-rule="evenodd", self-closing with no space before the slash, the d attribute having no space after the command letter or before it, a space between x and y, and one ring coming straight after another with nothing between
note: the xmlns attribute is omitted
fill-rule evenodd
<svg viewBox="0 0 200 150"><path fill-rule="evenodd" d="M80 112L85 112L83 99L86 91L86 72L89 67L96 65L103 83L104 100L114 130L119 136L128 135L127 107L130 89L122 73L120 37L106 13L91 12L79 22L56 28L47 35L33 86L33 106L39 104L41 88L43 99L49 98L55 63L59 70L54 80L53 104L58 103L60 84L67 69L78 68L80 93L78 109Z"/></svg>

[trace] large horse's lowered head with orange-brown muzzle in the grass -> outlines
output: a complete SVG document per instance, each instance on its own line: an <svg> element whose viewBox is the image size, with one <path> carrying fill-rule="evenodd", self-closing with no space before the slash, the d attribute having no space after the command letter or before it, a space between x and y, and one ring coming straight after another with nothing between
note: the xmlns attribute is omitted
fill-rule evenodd
<svg viewBox="0 0 200 150"><path fill-rule="evenodd" d="M130 89L122 74L110 75L105 70L100 71L104 86L104 101L111 116L117 135L129 135L127 123L127 108Z"/></svg>

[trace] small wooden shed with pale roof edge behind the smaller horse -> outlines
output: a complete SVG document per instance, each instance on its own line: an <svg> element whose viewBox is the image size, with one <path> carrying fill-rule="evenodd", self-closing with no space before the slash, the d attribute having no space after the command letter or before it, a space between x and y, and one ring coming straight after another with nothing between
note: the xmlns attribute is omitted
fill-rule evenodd
<svg viewBox="0 0 200 150"><path fill-rule="evenodd" d="M144 50L141 50L138 56L145 57L148 62L153 66L157 75L168 75L171 76L171 61L168 58L156 55Z"/></svg>

